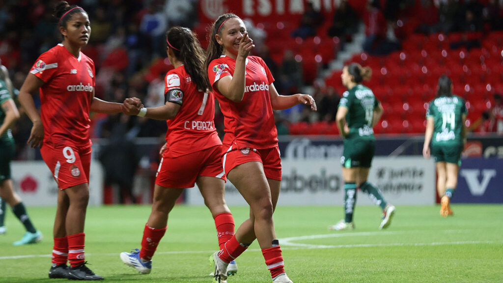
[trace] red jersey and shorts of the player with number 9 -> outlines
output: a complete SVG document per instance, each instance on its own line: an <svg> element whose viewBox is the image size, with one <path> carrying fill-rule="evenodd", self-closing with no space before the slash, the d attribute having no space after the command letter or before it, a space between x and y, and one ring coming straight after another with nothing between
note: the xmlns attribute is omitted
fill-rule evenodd
<svg viewBox="0 0 503 283"><path fill-rule="evenodd" d="M58 44L39 56L30 73L45 82L40 88L42 158L60 189L88 183L93 60L82 52L77 58Z"/></svg>

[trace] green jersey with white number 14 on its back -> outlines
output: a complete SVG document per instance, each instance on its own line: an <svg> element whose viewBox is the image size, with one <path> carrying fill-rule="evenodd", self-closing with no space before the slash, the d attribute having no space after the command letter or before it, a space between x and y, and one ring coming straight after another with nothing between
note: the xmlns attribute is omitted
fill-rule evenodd
<svg viewBox="0 0 503 283"><path fill-rule="evenodd" d="M432 100L426 111L426 117L435 119L432 144L462 144L463 115L467 112L465 100L459 96L441 96Z"/></svg>

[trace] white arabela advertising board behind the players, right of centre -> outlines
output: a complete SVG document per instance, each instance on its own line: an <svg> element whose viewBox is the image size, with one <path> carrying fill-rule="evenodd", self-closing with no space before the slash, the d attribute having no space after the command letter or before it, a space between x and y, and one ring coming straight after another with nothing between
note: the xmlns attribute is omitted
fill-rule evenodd
<svg viewBox="0 0 503 283"><path fill-rule="evenodd" d="M344 182L339 158L282 160L283 180L278 205L342 205ZM435 166L422 157L376 157L369 181L377 185L386 200L397 205L435 204ZM245 205L236 188L227 182L226 201ZM197 189L187 190L188 204L203 205ZM358 204L373 205L359 194Z"/></svg>

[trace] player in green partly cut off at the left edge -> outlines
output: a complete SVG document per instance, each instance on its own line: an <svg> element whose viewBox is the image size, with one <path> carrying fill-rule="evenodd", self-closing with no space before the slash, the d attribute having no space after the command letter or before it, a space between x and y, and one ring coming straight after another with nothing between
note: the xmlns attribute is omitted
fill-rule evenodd
<svg viewBox="0 0 503 283"><path fill-rule="evenodd" d="M7 68L0 63L0 234L6 232L4 226L5 203L12 207L14 215L25 226L26 234L14 245L24 245L36 243L42 238L42 233L33 226L30 217L26 213L26 208L19 195L14 191L14 184L11 179L11 159L16 153L16 145L9 128L14 121L19 118L19 111L14 103L14 96L17 90L12 86Z"/></svg>

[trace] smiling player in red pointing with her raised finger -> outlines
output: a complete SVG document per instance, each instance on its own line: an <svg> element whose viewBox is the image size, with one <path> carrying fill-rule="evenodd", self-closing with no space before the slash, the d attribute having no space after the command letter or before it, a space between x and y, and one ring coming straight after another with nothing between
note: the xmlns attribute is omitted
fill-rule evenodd
<svg viewBox="0 0 503 283"><path fill-rule="evenodd" d="M284 270L273 223L281 181L273 110L298 103L316 110L316 104L309 95L279 95L264 60L248 56L254 47L243 22L234 14L220 16L211 27L205 65L225 117L224 171L248 202L250 218L210 260L215 280L225 282L227 264L257 238L273 282L292 282Z"/></svg>

